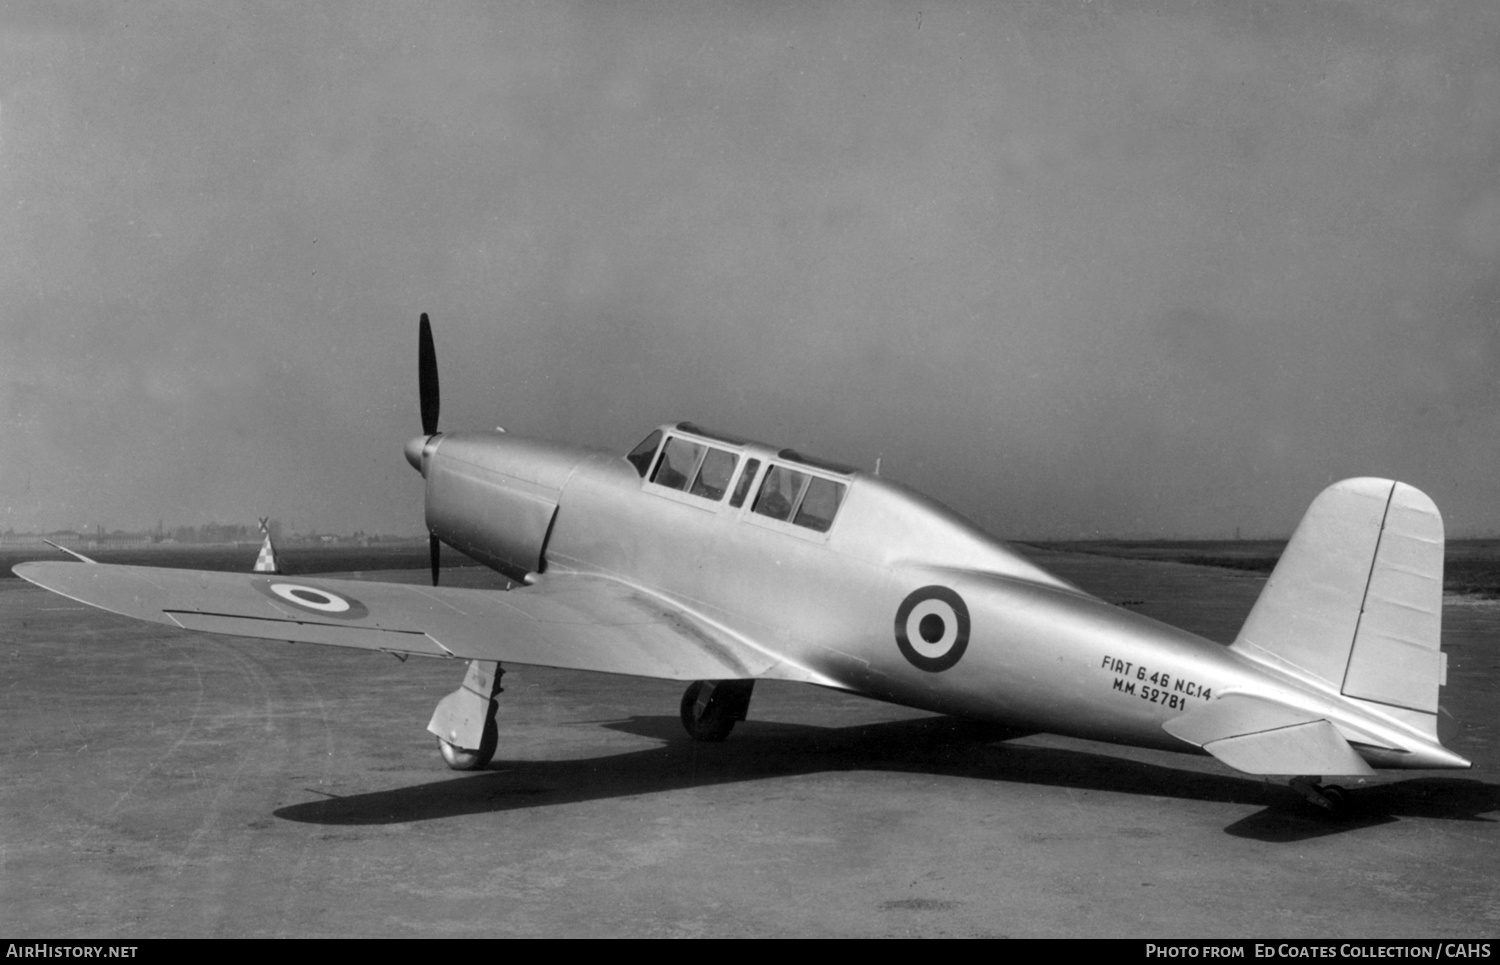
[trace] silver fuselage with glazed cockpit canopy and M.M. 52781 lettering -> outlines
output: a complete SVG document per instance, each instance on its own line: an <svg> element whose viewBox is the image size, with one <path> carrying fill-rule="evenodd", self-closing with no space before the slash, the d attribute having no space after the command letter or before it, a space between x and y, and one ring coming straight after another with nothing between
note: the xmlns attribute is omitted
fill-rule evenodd
<svg viewBox="0 0 1500 965"><path fill-rule="evenodd" d="M1196 747L1167 720L1262 695L1335 722L1377 767L1461 765L1396 719L1106 603L848 467L686 423L628 456L459 432L414 440L408 458L428 477L428 525L452 546L516 578L628 582L777 654L788 678L1173 750Z"/></svg>

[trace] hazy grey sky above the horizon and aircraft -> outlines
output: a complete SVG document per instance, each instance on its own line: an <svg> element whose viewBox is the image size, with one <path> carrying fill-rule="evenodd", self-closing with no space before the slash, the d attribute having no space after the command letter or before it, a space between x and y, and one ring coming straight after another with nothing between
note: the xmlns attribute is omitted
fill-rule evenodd
<svg viewBox="0 0 1500 965"><path fill-rule="evenodd" d="M692 420L1005 539L1500 533L1500 6L8 3L0 531Z"/></svg>

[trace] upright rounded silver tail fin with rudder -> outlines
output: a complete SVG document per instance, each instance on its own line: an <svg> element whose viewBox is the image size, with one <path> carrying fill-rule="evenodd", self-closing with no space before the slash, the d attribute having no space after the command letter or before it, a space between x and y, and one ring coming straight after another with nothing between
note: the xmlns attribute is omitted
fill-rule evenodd
<svg viewBox="0 0 1500 965"><path fill-rule="evenodd" d="M1406 483L1346 479L1312 500L1233 650L1436 738L1442 630L1443 516Z"/></svg>

